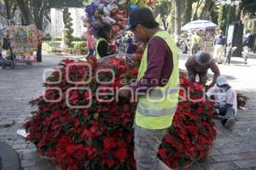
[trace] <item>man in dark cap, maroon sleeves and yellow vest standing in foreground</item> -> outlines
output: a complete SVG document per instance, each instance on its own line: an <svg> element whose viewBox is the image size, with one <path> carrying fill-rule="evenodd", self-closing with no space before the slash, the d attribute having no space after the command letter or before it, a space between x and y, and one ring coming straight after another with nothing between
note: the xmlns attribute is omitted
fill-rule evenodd
<svg viewBox="0 0 256 170"><path fill-rule="evenodd" d="M134 126L137 170L170 170L157 153L177 110L177 45L171 35L160 28L149 8L131 11L128 24L138 41L148 43L137 82L119 91L121 96L131 95L131 90L138 95Z"/></svg>

